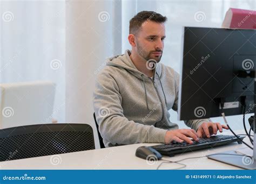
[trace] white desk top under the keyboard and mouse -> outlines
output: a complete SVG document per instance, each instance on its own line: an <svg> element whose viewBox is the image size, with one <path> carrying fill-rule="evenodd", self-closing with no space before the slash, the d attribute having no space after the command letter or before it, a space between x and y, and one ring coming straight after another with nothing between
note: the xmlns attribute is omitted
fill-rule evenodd
<svg viewBox="0 0 256 184"><path fill-rule="evenodd" d="M242 133L241 131L237 133ZM227 134L225 132L225 134ZM230 134L230 133L228 133ZM246 143L248 138L244 139ZM0 162L1 169L156 169L162 161L149 165L146 160L135 156L139 146L152 146L156 144L133 144L127 146L110 147L98 150L81 151L49 155L44 157L11 160ZM232 143L230 145L215 147L211 150L199 150L176 155L175 157L164 157L164 159L176 161L188 157L200 157L207 154L234 150L246 147L245 145ZM52 164L53 163L53 164ZM211 159L199 158L181 161L187 166L184 169L240 169ZM175 169L178 164L164 164L160 169Z"/></svg>

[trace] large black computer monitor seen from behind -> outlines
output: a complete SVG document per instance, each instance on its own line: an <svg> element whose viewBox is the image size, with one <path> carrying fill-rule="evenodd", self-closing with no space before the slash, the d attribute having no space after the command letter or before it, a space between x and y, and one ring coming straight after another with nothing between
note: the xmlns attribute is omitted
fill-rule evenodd
<svg viewBox="0 0 256 184"><path fill-rule="evenodd" d="M256 30L184 27L183 36L179 120L254 112Z"/></svg>

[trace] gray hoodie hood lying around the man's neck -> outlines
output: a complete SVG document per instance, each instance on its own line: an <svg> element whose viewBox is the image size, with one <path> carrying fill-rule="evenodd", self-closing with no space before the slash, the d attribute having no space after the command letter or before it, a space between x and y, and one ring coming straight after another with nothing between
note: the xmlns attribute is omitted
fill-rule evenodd
<svg viewBox="0 0 256 184"><path fill-rule="evenodd" d="M109 58L106 62L106 65L125 68L129 73L136 76L138 79L144 80L143 76L146 76L146 75L144 73L140 72L136 68L136 66L134 66L134 64L130 58L130 55L131 55L131 51L129 49L127 49L125 51L125 54L116 55L116 56ZM156 66L156 69L154 70L153 76L156 76L156 73L157 73L160 77L161 76L161 64L157 63L156 65L157 66Z"/></svg>

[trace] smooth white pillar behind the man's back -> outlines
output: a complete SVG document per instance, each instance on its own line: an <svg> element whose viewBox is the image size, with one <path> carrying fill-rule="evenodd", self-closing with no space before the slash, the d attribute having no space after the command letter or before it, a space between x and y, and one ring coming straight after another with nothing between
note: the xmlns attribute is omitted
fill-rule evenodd
<svg viewBox="0 0 256 184"><path fill-rule="evenodd" d="M114 14L119 2L70 1L66 7L66 122L95 128L92 94L107 58L121 48L121 26ZM116 17L117 16L117 17ZM120 22L119 22L120 23ZM96 130L94 131L97 136ZM98 143L96 143L98 144Z"/></svg>

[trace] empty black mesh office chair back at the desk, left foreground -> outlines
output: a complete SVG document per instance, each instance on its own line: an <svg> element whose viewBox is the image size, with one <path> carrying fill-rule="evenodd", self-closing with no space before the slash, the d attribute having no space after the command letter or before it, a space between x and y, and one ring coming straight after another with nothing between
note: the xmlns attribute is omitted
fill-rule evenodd
<svg viewBox="0 0 256 184"><path fill-rule="evenodd" d="M88 124L37 124L0 130L0 161L93 150Z"/></svg>

